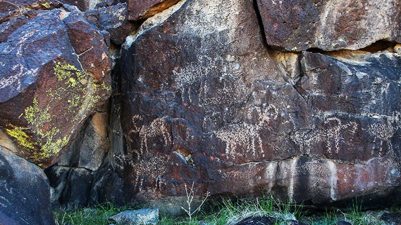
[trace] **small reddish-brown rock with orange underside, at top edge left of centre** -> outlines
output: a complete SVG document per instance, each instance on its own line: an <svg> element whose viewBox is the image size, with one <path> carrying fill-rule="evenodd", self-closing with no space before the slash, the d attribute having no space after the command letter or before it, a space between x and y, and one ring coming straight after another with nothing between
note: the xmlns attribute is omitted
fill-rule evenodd
<svg viewBox="0 0 401 225"><path fill-rule="evenodd" d="M129 19L146 19L174 5L179 0L127 0Z"/></svg>

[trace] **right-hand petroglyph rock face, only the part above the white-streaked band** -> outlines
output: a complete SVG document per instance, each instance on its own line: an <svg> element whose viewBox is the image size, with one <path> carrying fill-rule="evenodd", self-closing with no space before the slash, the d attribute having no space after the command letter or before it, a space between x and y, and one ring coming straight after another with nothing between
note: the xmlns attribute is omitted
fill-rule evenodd
<svg viewBox="0 0 401 225"><path fill-rule="evenodd" d="M307 154L350 162L391 155L396 161L400 59L390 52L302 53L304 76L296 87L320 117L304 137Z"/></svg>

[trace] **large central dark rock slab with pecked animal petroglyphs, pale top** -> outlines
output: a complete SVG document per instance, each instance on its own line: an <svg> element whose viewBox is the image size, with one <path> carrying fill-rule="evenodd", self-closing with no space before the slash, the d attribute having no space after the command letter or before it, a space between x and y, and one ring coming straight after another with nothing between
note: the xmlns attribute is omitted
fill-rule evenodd
<svg viewBox="0 0 401 225"><path fill-rule="evenodd" d="M131 192L145 198L180 195L185 179L206 182L200 191L244 190L223 182L222 176L245 172L251 161L266 160L265 168L257 169L263 170L270 168L269 159L299 154L280 138L288 135L280 134L283 127L263 128L289 120L289 111L296 110L285 109L273 119L275 106L268 99L283 97L304 111L307 105L265 49L252 1L208 1L209 7L200 7L204 3L180 2L165 22L162 15L149 21L156 25L139 31L142 34L121 58L120 113L129 158L124 179L132 183L127 187ZM288 126L306 128L292 122ZM271 133L287 151L275 154L267 139L259 139ZM245 148L249 144L253 147Z"/></svg>

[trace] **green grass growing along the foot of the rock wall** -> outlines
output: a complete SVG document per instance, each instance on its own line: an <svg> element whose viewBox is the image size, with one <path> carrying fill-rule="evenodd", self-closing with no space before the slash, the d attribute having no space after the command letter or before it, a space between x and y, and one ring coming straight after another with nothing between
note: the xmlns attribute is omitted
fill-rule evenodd
<svg viewBox="0 0 401 225"><path fill-rule="evenodd" d="M311 225L336 225L338 221L344 220L353 225L385 225L376 215L362 211L361 203L354 203L352 210L341 211L339 209L326 210L323 213L305 216L302 204L286 203L274 199L271 195L256 199L222 199L216 211L200 211L191 219L188 216L173 217L161 215L160 225L185 224L185 225L233 225L239 221L252 216L272 216L277 218L275 225L282 225L283 220L300 220ZM56 224L58 225L103 225L107 218L124 210L135 210L135 207L116 207L112 203L96 204L93 207L73 209L59 209L54 212ZM399 207L393 207L392 211L399 211Z"/></svg>

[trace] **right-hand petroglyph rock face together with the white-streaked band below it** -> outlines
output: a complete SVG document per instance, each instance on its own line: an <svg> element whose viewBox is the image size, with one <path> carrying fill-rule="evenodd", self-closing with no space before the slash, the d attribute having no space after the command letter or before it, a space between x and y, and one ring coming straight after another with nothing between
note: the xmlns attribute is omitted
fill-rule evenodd
<svg viewBox="0 0 401 225"><path fill-rule="evenodd" d="M303 52L300 65L295 87L314 120L302 146L312 158L279 162L276 192L319 204L398 186L400 55Z"/></svg>

